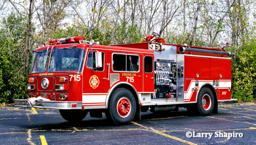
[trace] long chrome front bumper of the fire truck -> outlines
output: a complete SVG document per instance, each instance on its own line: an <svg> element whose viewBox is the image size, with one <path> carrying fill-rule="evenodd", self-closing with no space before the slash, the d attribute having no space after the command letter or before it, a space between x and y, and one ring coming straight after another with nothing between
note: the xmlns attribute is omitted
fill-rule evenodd
<svg viewBox="0 0 256 145"><path fill-rule="evenodd" d="M72 107L76 104L76 107ZM38 100L32 105L28 100L14 100L15 107L35 107L42 109L82 109L82 102L61 102L61 101L43 101Z"/></svg>

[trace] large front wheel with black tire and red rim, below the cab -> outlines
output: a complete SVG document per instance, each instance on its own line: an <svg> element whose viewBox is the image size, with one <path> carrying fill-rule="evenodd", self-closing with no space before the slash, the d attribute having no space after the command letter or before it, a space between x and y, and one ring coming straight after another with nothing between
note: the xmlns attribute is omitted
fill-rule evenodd
<svg viewBox="0 0 256 145"><path fill-rule="evenodd" d="M106 117L116 125L131 123L136 113L134 95L125 88L115 89L108 102Z"/></svg>

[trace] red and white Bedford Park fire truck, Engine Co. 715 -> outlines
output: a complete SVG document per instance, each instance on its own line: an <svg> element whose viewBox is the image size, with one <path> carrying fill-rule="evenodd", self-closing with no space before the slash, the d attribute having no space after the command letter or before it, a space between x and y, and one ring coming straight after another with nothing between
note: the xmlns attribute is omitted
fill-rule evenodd
<svg viewBox="0 0 256 145"><path fill-rule="evenodd" d="M102 117L117 125L140 120L141 112L179 107L207 116L231 98L231 58L219 48L166 44L157 33L143 42L104 46L75 36L36 48L28 98L15 106L59 109L67 121Z"/></svg>

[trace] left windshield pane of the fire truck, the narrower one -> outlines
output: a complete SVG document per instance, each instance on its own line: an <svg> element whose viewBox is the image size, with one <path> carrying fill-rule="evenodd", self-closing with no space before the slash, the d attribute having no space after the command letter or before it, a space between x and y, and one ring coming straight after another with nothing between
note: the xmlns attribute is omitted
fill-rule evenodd
<svg viewBox="0 0 256 145"><path fill-rule="evenodd" d="M29 73L44 73L49 60L50 49L35 51Z"/></svg>

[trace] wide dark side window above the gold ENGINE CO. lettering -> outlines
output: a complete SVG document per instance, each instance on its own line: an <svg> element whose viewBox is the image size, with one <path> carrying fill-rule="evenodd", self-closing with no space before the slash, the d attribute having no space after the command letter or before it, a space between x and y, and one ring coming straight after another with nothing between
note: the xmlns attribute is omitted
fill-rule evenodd
<svg viewBox="0 0 256 145"><path fill-rule="evenodd" d="M138 72L139 63L140 60L137 55L113 54L112 69L113 71Z"/></svg>

